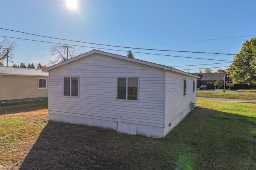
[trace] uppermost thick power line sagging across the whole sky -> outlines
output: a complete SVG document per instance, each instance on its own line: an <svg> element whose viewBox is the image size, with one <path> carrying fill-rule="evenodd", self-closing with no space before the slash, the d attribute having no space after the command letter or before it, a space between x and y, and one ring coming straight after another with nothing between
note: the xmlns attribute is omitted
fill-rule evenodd
<svg viewBox="0 0 256 170"><path fill-rule="evenodd" d="M230 54L230 53L212 53L212 52L198 52L198 51L180 51L180 50L161 50L161 49L146 49L146 48L136 48L136 47L125 47L125 46L119 46L119 45L107 45L107 44L100 44L100 43L89 43L85 41L76 41L76 40L71 40L71 39L63 39L63 38L57 38L57 37L50 37L46 35L38 35L34 33L26 33L23 31L16 31L13 29L6 29L0 27L0 29L6 30L6 31L14 31L18 33L24 33L28 35L35 35L38 37L46 37L46 38L51 38L51 39L59 39L59 40L64 40L64 41L72 41L72 42L77 42L77 43L86 43L86 44L93 44L93 45L104 45L108 47L119 47L119 48L126 48L126 49L140 49L140 50L150 50L150 51L168 51L168 52L180 52L180 53L203 53L203 54L218 54L218 55L240 55L240 54ZM254 56L254 55L242 55L242 56Z"/></svg>

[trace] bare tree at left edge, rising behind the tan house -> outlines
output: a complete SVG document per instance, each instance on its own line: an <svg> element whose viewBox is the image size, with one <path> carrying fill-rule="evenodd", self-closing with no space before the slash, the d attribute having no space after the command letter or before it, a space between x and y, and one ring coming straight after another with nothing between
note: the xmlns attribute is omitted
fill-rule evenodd
<svg viewBox="0 0 256 170"><path fill-rule="evenodd" d="M15 41L9 41L4 37L4 40L0 41L0 63L7 63L7 57L8 61L12 62L17 46Z"/></svg>

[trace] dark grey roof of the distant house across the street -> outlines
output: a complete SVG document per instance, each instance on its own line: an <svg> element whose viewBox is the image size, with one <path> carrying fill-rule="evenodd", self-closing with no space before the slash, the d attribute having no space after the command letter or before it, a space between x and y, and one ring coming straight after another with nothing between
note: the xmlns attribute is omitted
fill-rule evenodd
<svg viewBox="0 0 256 170"><path fill-rule="evenodd" d="M191 73L195 76L199 76L201 81L214 81L214 80L224 80L224 72L216 73ZM232 81L232 78L229 78L226 74L225 81Z"/></svg>

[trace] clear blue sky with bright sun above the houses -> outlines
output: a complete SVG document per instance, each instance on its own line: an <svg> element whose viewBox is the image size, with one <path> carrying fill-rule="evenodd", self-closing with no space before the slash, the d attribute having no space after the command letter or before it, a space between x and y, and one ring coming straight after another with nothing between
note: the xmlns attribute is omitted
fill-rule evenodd
<svg viewBox="0 0 256 170"><path fill-rule="evenodd" d="M78 8L70 10L66 0L1 1L0 27L40 35L110 45L154 49L238 53L242 43L254 36L217 39L244 35L256 37L256 1L240 0L77 0ZM0 35L86 45L47 39L0 30ZM2 38L0 38L2 39ZM14 61L47 64L52 44L14 40L18 43ZM190 42L183 42L190 41ZM182 42L182 43L177 43ZM90 45L91 47L102 47ZM104 48L104 46L103 46ZM117 49L117 48L111 48ZM92 48L85 48L90 51ZM123 50L123 49L122 49ZM128 50L128 49L124 49ZM108 51L108 50L103 50ZM233 60L227 55L203 55L132 50L138 52ZM120 55L126 52L108 51ZM161 57L134 53L135 58L168 66L222 63L198 59ZM15 62L14 62L15 63ZM178 69L228 66L213 64L183 66ZM226 68L226 67L223 67ZM213 68L217 70L218 68ZM184 70L198 72L196 70Z"/></svg>

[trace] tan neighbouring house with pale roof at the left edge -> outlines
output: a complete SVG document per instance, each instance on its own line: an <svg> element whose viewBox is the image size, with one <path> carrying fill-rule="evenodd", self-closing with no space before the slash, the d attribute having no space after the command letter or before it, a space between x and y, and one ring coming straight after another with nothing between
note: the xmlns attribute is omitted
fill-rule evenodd
<svg viewBox="0 0 256 170"><path fill-rule="evenodd" d="M48 98L48 73L0 66L0 102Z"/></svg>

